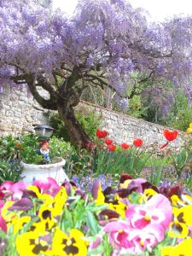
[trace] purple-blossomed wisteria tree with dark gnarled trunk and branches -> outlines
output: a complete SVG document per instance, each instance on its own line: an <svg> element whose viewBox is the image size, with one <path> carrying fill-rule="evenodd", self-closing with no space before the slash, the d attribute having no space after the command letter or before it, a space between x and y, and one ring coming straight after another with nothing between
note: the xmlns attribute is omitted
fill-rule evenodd
<svg viewBox="0 0 192 256"><path fill-rule="evenodd" d="M73 142L88 148L90 138L73 112L84 89L107 86L126 103L133 73L129 97L148 79L178 79L186 65L182 45L188 49L191 37L182 42L176 30L171 23L148 27L143 10L125 0L79 1L71 19L35 0L1 0L0 86L27 84L43 108L59 112Z"/></svg>

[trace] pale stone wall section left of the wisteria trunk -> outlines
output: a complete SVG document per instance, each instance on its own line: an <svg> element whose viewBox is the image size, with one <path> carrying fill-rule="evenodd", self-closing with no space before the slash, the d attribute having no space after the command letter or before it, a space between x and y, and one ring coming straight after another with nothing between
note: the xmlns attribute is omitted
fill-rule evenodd
<svg viewBox="0 0 192 256"><path fill-rule="evenodd" d="M25 85L20 86L20 90L9 85L3 87L0 94L0 137L31 132L32 125L46 124L44 112L27 92Z"/></svg>

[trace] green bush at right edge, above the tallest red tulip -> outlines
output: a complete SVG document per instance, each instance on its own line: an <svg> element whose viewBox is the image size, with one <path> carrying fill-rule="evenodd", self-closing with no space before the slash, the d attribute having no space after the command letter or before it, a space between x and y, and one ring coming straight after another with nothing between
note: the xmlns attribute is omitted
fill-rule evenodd
<svg viewBox="0 0 192 256"><path fill-rule="evenodd" d="M172 105L166 125L180 131L186 131L192 122L192 106L182 90L179 90L175 102Z"/></svg>

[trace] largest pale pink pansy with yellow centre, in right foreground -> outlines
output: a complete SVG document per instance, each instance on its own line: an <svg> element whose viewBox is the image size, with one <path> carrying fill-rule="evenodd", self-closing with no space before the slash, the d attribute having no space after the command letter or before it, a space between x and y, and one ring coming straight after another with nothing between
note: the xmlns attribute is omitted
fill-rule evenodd
<svg viewBox="0 0 192 256"><path fill-rule="evenodd" d="M172 206L164 195L154 195L145 205L129 207L125 218L133 228L143 229L148 224L161 224L167 229L172 221Z"/></svg>

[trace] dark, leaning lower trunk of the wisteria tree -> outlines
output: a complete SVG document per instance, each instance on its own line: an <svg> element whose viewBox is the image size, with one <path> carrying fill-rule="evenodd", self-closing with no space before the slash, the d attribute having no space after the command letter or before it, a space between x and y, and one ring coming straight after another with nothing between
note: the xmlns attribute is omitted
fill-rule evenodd
<svg viewBox="0 0 192 256"><path fill-rule="evenodd" d="M94 143L85 133L79 121L76 119L73 107L67 107L65 104L58 107L58 112L66 125L68 135L78 148L93 149Z"/></svg>

